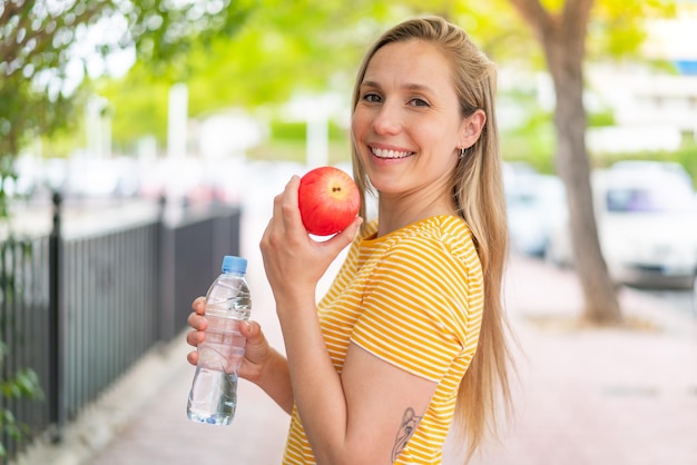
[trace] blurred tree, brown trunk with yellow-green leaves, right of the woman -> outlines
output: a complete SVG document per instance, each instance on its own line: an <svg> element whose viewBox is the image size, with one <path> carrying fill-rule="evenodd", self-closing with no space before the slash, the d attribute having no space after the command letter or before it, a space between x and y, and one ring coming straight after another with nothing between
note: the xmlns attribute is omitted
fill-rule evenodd
<svg viewBox="0 0 697 465"><path fill-rule="evenodd" d="M557 170L567 187L573 260L585 298L583 317L617 324L622 315L600 250L586 148L583 62L588 46L612 55L636 51L642 19L670 13L661 0L509 0L542 46L554 93Z"/></svg>

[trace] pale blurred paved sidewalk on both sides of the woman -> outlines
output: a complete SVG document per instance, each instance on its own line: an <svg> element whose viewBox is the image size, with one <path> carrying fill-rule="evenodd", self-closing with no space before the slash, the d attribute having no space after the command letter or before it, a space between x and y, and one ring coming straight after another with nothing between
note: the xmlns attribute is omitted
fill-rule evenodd
<svg viewBox="0 0 697 465"><path fill-rule="evenodd" d="M281 348L257 247L268 216L257 217L243 221L254 318ZM632 328L579 327L575 276L523 257L510 263L505 299L519 339L516 417L474 465L697 464L695 317L622 290ZM288 418L246 382L229 427L186 418L188 350L181 335L149 354L62 445L37 447L20 465L278 464ZM455 451L451 443L445 465L462 463Z"/></svg>

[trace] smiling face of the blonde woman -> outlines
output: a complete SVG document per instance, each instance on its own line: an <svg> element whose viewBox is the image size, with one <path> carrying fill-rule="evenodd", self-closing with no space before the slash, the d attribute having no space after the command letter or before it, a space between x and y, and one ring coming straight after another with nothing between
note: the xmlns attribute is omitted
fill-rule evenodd
<svg viewBox="0 0 697 465"><path fill-rule="evenodd" d="M451 76L448 60L424 41L390 43L371 59L352 131L381 199L451 195L468 127Z"/></svg>

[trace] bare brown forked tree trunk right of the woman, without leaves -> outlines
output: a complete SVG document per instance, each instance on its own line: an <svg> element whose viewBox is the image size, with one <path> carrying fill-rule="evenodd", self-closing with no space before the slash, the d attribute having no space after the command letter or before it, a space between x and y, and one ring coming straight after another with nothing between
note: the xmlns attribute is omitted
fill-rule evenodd
<svg viewBox="0 0 697 465"><path fill-rule="evenodd" d="M550 16L538 0L511 0L537 33L554 82L557 170L567 187L573 263L585 299L583 317L596 324L621 320L617 291L600 250L586 149L583 107L586 26L592 0L567 0Z"/></svg>

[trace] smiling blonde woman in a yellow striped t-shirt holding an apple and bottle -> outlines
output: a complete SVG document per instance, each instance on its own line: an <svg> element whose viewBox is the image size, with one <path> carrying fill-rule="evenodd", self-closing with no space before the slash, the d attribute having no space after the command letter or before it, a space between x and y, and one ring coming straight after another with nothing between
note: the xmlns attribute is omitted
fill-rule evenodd
<svg viewBox="0 0 697 465"><path fill-rule="evenodd" d="M453 419L469 458L494 424L495 394L510 398L495 79L445 20L395 26L369 50L353 96L354 176L363 199L376 192L377 220L316 243L300 179L274 200L261 249L287 357L253 323L239 375L292 415L284 463L438 464ZM316 305L317 281L350 244ZM189 317L194 346L203 307Z"/></svg>

